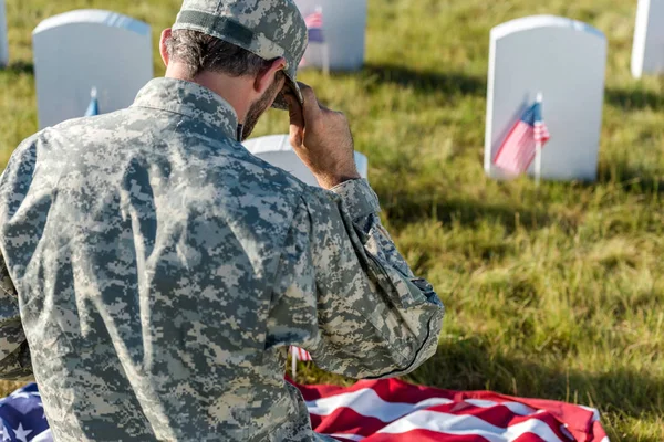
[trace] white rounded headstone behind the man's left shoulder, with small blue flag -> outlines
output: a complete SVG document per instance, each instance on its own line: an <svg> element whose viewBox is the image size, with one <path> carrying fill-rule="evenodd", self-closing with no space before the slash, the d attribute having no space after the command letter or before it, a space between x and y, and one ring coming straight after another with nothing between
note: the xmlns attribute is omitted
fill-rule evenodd
<svg viewBox="0 0 664 442"><path fill-rule="evenodd" d="M149 27L115 12L51 17L32 42L40 128L82 117L93 87L101 113L127 107L153 77Z"/></svg>

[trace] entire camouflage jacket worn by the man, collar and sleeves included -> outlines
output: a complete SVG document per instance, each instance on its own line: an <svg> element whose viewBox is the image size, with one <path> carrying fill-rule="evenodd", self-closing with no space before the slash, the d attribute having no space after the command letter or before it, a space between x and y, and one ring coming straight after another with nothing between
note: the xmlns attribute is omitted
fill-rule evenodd
<svg viewBox="0 0 664 442"><path fill-rule="evenodd" d="M308 187L236 127L221 97L158 78L10 159L0 377L33 370L55 440L324 440L284 380L290 345L356 378L435 351L444 308L369 183Z"/></svg>

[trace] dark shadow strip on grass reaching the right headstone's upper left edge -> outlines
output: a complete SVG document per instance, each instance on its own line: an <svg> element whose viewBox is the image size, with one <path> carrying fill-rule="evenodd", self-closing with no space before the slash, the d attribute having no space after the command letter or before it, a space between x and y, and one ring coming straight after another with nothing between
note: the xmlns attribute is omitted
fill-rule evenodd
<svg viewBox="0 0 664 442"><path fill-rule="evenodd" d="M487 93L487 81L484 77L458 72L416 71L406 66L366 64L364 75L375 78L377 83L392 83L418 92L452 95L477 95Z"/></svg>

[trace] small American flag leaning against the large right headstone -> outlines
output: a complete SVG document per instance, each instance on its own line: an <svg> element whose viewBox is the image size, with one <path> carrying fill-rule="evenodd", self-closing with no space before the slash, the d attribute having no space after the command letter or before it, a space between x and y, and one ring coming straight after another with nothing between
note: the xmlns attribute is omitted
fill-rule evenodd
<svg viewBox="0 0 664 442"><path fill-rule="evenodd" d="M498 149L494 164L511 175L525 173L535 159L538 143L542 148L549 138L549 129L542 119L542 103L538 101L512 127Z"/></svg>

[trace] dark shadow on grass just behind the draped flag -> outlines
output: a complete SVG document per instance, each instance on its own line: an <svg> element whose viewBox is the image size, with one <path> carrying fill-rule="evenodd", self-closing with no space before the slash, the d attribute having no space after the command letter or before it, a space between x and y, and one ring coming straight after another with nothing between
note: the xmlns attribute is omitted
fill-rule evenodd
<svg viewBox="0 0 664 442"><path fill-rule="evenodd" d="M611 412L619 419L657 418L664 407L662 379L624 369L601 375L556 370L531 360L496 354L474 339L442 344L438 352L407 380L449 390L489 389L525 398L578 402L603 413ZM639 435L641 439L636 434L626 436L624 440L650 442L642 435Z"/></svg>

